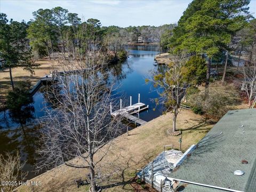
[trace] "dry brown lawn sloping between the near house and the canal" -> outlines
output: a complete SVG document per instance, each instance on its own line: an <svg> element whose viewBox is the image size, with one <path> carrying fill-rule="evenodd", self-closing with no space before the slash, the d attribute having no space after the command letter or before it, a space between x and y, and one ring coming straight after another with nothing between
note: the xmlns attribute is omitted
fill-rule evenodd
<svg viewBox="0 0 256 192"><path fill-rule="evenodd" d="M166 133L172 127L171 114L162 115L143 126L139 126L127 134L116 138L107 156L101 162L105 166L103 172L118 170L101 186L105 191L134 191L135 169L141 169L163 151L164 145L173 144L179 148L179 138ZM200 141L215 122L195 115L192 111L182 110L178 116L177 127L182 130L182 151ZM97 154L96 154L97 156ZM96 157L97 158L97 157ZM79 159L73 159L79 162ZM22 187L18 191L86 191L89 186L77 188L75 179L85 179L87 169L75 169L61 165L50 170L33 181L41 181L42 186Z"/></svg>

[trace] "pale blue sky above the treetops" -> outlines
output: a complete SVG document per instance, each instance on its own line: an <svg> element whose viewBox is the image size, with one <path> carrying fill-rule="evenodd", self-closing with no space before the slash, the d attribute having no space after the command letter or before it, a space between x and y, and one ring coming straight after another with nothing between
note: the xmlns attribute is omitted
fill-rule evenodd
<svg viewBox="0 0 256 192"><path fill-rule="evenodd" d="M190 2L191 0L0 0L0 12L6 13L9 19L29 21L33 18L33 11L61 6L69 12L78 13L83 20L99 19L103 26L160 26L177 23ZM250 11L254 12L253 15L256 17L255 0L250 3Z"/></svg>

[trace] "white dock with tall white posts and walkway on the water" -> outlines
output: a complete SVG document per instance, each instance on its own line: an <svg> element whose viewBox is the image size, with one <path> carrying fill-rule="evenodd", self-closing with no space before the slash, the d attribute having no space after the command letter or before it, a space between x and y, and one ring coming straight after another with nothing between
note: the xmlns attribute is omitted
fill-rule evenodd
<svg viewBox="0 0 256 192"><path fill-rule="evenodd" d="M132 105L132 96L130 96L130 106L122 108L122 99L120 100L120 109L112 111L112 106L110 103L110 113L112 116L123 116L127 120L134 122L135 124L143 125L147 123L146 121L139 118L139 113L143 110L148 109L148 105L140 102L140 93L138 97L138 103ZM133 116L132 114L137 113L138 117Z"/></svg>

